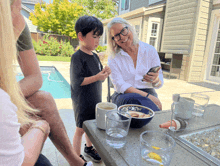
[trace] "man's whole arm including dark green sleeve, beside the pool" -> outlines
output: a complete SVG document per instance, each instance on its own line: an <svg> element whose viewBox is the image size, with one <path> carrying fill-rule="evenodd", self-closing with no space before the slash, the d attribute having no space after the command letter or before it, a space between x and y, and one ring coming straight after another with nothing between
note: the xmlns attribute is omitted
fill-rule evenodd
<svg viewBox="0 0 220 166"><path fill-rule="evenodd" d="M29 97L41 88L43 80L27 24L18 38L17 49L18 63L24 74L19 84L23 95Z"/></svg>

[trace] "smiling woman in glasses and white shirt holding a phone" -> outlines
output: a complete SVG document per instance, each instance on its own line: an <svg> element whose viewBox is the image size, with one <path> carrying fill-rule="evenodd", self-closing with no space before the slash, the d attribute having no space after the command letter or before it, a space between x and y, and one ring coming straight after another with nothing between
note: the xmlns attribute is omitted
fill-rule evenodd
<svg viewBox="0 0 220 166"><path fill-rule="evenodd" d="M154 111L162 110L155 89L163 85L163 73L156 49L138 39L135 29L124 19L116 17L108 25L107 52L110 78L115 88L112 102L139 104ZM155 73L148 71L157 67Z"/></svg>

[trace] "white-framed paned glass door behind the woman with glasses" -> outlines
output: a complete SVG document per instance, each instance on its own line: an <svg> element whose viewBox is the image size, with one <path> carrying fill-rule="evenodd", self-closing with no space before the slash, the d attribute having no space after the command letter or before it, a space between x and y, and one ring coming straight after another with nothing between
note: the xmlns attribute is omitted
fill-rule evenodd
<svg viewBox="0 0 220 166"><path fill-rule="evenodd" d="M160 29L160 18L149 17L147 30L147 43L158 50L158 36Z"/></svg>

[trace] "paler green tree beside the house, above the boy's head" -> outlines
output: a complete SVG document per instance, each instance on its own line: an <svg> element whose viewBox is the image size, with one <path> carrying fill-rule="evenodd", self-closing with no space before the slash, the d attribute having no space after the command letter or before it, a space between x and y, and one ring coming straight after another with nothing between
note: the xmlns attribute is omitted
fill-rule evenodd
<svg viewBox="0 0 220 166"><path fill-rule="evenodd" d="M108 19L117 14L117 1L114 0L72 0L83 6L87 15Z"/></svg>

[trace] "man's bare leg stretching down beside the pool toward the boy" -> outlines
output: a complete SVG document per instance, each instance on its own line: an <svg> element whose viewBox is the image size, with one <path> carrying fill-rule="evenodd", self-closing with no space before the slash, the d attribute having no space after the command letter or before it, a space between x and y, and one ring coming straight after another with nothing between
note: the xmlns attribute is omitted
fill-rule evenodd
<svg viewBox="0 0 220 166"><path fill-rule="evenodd" d="M52 95L49 92L38 91L27 100L40 110L38 115L49 123L51 129L49 137L69 164L83 165L84 161L73 150Z"/></svg>

